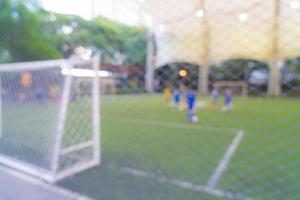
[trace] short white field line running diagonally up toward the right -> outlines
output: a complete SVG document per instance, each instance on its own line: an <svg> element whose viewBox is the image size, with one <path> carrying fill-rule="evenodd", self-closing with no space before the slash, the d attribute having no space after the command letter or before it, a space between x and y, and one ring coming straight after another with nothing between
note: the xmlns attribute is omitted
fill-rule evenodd
<svg viewBox="0 0 300 200"><path fill-rule="evenodd" d="M229 145L227 151L224 154L224 157L220 160L218 167L216 168L216 170L214 171L213 175L211 176L207 187L208 188L215 188L217 186L217 184L219 183L219 180L221 178L221 176L223 175L223 173L225 172L231 158L233 157L236 149L238 148L240 142L242 141L244 137L244 131L240 130L236 137L234 138L234 140L231 142L231 144Z"/></svg>

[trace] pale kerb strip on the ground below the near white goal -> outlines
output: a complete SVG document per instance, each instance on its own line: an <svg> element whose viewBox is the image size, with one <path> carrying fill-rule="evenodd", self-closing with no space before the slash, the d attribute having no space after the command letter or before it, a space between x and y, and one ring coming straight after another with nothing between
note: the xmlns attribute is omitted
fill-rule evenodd
<svg viewBox="0 0 300 200"><path fill-rule="evenodd" d="M74 200L92 200L91 198L83 196L79 193L69 191L67 189L58 187L56 185L47 184L47 183L45 183L44 181L42 181L38 178L34 178L32 176L23 174L21 172L18 172L18 171L15 171L15 170L12 170L12 169L9 169L9 168L6 168L6 167L0 166L0 170L2 172L6 173L6 174L9 174L9 175L11 175L11 176L13 176L13 177L15 177L19 180L25 181L25 182L27 182L31 185L41 187L41 188L43 188L45 190L48 190L50 192L60 194L60 195L63 195L65 197L68 197L68 198L71 198L71 199L74 199Z"/></svg>

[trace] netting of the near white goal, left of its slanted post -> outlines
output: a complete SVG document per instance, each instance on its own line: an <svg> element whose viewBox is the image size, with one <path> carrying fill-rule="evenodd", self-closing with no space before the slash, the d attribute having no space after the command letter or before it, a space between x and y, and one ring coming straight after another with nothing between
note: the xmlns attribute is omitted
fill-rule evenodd
<svg viewBox="0 0 300 200"><path fill-rule="evenodd" d="M1 72L1 154L51 169L60 104L48 89L62 83L57 69Z"/></svg>

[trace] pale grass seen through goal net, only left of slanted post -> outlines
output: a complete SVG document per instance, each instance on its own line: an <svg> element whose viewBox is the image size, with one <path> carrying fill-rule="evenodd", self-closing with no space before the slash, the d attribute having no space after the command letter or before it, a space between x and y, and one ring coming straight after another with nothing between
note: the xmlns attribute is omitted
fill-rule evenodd
<svg viewBox="0 0 300 200"><path fill-rule="evenodd" d="M58 104L4 104L0 153L50 169Z"/></svg>

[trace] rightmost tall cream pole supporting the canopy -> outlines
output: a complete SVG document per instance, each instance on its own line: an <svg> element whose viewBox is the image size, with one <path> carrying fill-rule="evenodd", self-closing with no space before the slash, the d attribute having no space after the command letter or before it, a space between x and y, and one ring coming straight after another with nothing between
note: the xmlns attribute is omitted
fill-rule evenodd
<svg viewBox="0 0 300 200"><path fill-rule="evenodd" d="M281 0L274 0L273 32L272 32L272 52L269 72L268 95L281 95L281 71L278 63L278 40L281 14Z"/></svg>

